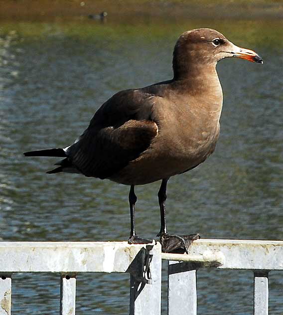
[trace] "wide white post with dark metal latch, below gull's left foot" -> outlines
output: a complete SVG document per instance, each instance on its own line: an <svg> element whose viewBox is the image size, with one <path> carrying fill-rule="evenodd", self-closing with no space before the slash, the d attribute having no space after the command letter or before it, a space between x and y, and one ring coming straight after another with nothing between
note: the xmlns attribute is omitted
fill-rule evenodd
<svg viewBox="0 0 283 315"><path fill-rule="evenodd" d="M161 245L146 246L136 259L129 270L130 315L160 315Z"/></svg>

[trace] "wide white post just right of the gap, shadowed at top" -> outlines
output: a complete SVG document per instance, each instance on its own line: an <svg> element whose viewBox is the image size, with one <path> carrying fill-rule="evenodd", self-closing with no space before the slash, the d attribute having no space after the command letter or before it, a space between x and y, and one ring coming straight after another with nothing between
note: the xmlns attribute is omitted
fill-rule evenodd
<svg viewBox="0 0 283 315"><path fill-rule="evenodd" d="M168 261L168 315L196 315L197 264Z"/></svg>

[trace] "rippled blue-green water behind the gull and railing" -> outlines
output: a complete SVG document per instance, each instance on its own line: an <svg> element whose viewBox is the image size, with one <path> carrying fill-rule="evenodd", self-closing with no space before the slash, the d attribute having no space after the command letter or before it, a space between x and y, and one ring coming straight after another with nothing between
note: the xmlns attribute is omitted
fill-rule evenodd
<svg viewBox="0 0 283 315"><path fill-rule="evenodd" d="M129 187L47 175L56 158L24 158L22 152L69 145L117 91L170 78L176 38L203 26L255 49L265 63L230 59L218 65L224 91L219 142L205 163L170 179L169 232L283 239L283 22L74 19L6 21L0 28L2 240L128 238ZM137 231L144 237L159 231L158 186L136 189ZM200 270L199 314L251 314L252 279L252 272ZM77 314L129 314L128 280L128 275L79 275ZM271 314L282 314L282 285L282 274L272 272ZM57 314L58 295L57 275L13 276L15 314Z"/></svg>

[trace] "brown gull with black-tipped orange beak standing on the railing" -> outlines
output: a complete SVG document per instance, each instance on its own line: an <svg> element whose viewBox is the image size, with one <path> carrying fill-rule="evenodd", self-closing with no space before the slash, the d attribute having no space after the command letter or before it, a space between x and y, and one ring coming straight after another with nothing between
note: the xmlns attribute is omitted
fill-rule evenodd
<svg viewBox="0 0 283 315"><path fill-rule="evenodd" d="M223 101L216 64L227 57L263 63L253 50L234 45L216 30L186 31L174 47L171 80L116 93L95 113L73 145L24 155L64 158L49 174L80 173L130 185L130 244L151 242L136 234L135 185L161 180L157 236L162 251L187 252L199 234L167 232L167 181L196 167L214 152Z"/></svg>

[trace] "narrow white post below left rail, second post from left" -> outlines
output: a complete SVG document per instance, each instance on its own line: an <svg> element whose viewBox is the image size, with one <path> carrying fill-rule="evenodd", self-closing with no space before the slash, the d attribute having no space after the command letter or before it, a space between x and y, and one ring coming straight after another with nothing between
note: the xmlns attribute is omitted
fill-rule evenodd
<svg viewBox="0 0 283 315"><path fill-rule="evenodd" d="M76 313L76 278L74 275L61 275L60 315Z"/></svg>

